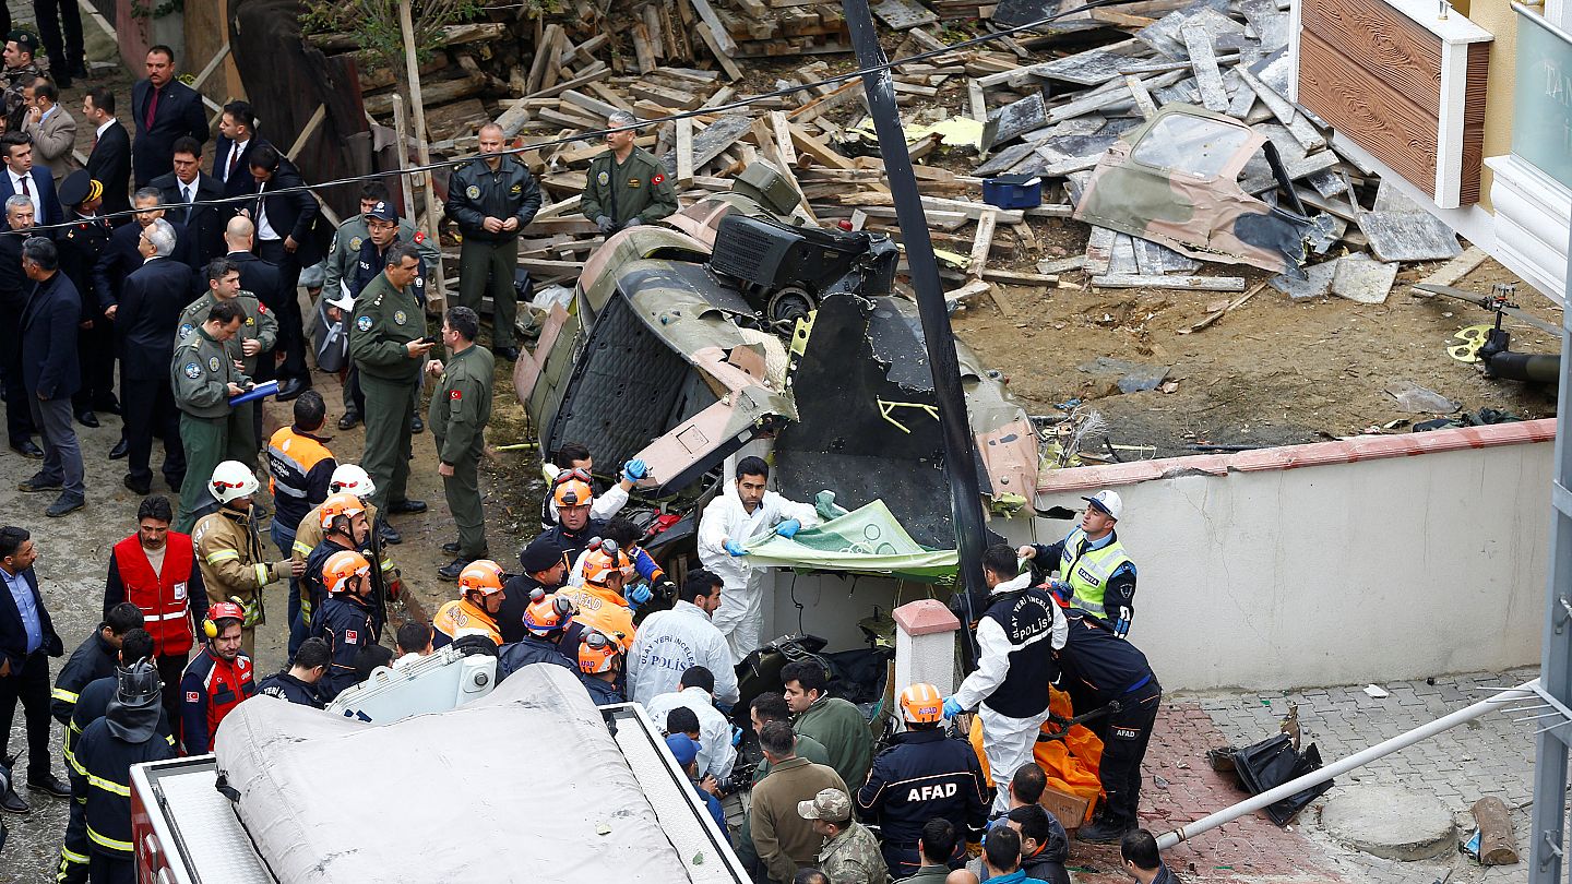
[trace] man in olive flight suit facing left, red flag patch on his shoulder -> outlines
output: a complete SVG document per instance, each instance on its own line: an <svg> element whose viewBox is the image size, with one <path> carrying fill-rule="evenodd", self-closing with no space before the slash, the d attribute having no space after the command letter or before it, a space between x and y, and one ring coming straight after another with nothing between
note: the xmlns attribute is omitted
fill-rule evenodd
<svg viewBox="0 0 1572 884"><path fill-rule="evenodd" d="M457 558L437 569L445 580L457 580L464 566L489 558L486 513L481 510L481 450L490 420L492 373L495 357L475 346L481 318L468 307L453 307L442 322L442 343L453 354L446 365L432 360L428 370L440 376L431 395L431 433L437 437L437 472L448 497L448 510L459 529ZM443 549L448 549L446 546Z"/></svg>

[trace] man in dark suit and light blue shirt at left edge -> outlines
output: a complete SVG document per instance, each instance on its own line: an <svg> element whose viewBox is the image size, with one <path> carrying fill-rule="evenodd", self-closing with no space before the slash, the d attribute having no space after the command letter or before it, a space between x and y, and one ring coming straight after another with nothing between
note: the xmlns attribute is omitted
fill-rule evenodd
<svg viewBox="0 0 1572 884"><path fill-rule="evenodd" d="M0 529L0 758L8 758L11 719L22 702L27 719L27 785L57 797L69 797L71 786L50 771L49 758L49 657L66 653L55 624L38 591L33 562L38 547L27 529ZM0 808L27 813L27 802L6 790Z"/></svg>

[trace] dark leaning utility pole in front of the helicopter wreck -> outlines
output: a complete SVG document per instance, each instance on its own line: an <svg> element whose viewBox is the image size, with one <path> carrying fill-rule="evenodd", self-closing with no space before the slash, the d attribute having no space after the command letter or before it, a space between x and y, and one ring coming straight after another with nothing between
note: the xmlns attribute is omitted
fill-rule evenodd
<svg viewBox="0 0 1572 884"><path fill-rule="evenodd" d="M883 47L874 30L868 0L844 0L846 24L852 31L852 49L857 50L857 66L868 69L885 64ZM879 134L879 154L885 164L885 182L894 201L896 220L901 225L901 242L905 245L905 261L912 269L912 288L916 291L916 311L923 321L923 344L927 349L927 365L934 373L934 398L938 401L938 425L945 439L945 477L949 481L949 518L956 525L956 555L959 558L957 587L962 610L967 615L965 634L968 659L976 659L976 637L971 634L973 598L984 598L987 584L982 580L982 491L978 486L975 439L967 420L967 400L960 389L960 363L956 359L956 335L945 310L945 289L938 285L938 261L934 258L934 242L927 236L927 217L923 214L923 197L916 190L912 173L912 157L905 149L905 131L894 102L890 71L879 69L863 74L863 91L868 94L868 113L874 118Z"/></svg>

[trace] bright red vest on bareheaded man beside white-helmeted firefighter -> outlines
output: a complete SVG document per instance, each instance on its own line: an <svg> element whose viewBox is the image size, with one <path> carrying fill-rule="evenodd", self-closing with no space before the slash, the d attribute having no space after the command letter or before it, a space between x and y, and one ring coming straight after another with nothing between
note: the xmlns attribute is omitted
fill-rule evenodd
<svg viewBox="0 0 1572 884"><path fill-rule="evenodd" d="M163 569L152 573L152 563L137 535L115 544L108 558L108 580L104 584L104 612L129 601L146 618L143 629L152 635L154 653L160 657L184 657L195 643L193 624L208 617L208 591L201 568L192 549L190 535L170 532L163 544ZM195 610L195 617L192 617Z"/></svg>

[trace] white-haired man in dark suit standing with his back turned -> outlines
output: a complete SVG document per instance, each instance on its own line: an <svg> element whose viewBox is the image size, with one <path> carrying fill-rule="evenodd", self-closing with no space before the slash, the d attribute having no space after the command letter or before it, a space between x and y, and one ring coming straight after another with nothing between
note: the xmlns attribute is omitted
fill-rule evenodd
<svg viewBox="0 0 1572 884"><path fill-rule="evenodd" d="M179 489L185 478L179 412L170 387L174 332L190 304L192 271L174 261L174 228L163 219L141 228L137 241L145 263L126 277L115 313L119 338L119 395L126 411L126 488L148 494L152 434L163 437L163 480Z"/></svg>

